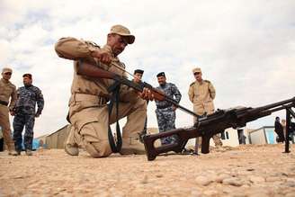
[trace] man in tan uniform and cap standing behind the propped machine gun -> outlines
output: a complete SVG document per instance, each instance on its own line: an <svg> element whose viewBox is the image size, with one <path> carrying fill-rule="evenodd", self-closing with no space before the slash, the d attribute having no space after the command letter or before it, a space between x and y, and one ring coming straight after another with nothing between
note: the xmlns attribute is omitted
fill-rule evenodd
<svg viewBox="0 0 295 197"><path fill-rule="evenodd" d="M209 115L214 112L213 100L216 95L215 88L210 81L202 79L200 67L193 68L192 74L195 81L190 85L188 94L190 101L193 103L193 112L200 116L205 113ZM194 118L193 122L195 121L196 118ZM214 135L213 140L216 147L222 146L219 134ZM201 138L197 138L196 143L201 144Z"/></svg>

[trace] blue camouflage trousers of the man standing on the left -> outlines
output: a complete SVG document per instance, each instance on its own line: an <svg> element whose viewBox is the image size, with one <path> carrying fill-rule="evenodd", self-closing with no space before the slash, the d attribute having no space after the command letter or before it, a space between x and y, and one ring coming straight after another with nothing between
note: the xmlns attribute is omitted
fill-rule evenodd
<svg viewBox="0 0 295 197"><path fill-rule="evenodd" d="M31 150L32 139L34 136L33 128L35 124L35 115L19 112L13 119L13 140L16 151L22 151L22 130L25 127L23 135L23 145L25 149Z"/></svg>

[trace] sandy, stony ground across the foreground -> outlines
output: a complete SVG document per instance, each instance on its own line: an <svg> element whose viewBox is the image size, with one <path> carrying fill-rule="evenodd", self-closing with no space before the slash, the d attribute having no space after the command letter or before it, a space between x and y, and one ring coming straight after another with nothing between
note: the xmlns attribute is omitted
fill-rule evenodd
<svg viewBox="0 0 295 197"><path fill-rule="evenodd" d="M201 156L0 154L0 196L295 196L295 151L246 145ZM23 154L23 153L22 153Z"/></svg>

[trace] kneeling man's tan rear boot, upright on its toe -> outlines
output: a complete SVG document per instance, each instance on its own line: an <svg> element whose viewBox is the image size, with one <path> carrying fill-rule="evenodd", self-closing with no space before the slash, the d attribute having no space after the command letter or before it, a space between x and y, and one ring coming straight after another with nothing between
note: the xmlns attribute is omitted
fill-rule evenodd
<svg viewBox="0 0 295 197"><path fill-rule="evenodd" d="M76 132L73 125L67 126L67 140L65 143L65 152L67 155L70 156L78 156L79 155L79 146L78 143L76 143L76 138L78 137L78 133Z"/></svg>

